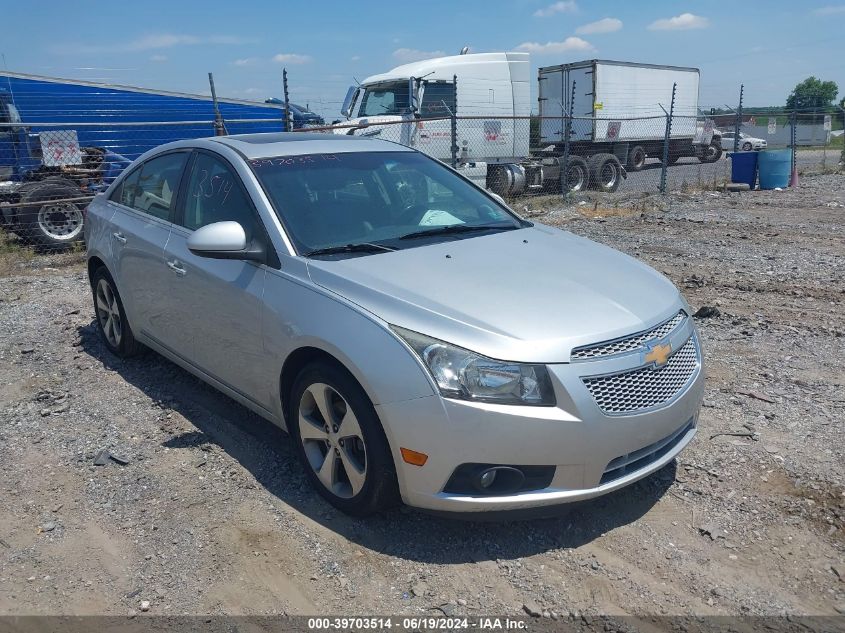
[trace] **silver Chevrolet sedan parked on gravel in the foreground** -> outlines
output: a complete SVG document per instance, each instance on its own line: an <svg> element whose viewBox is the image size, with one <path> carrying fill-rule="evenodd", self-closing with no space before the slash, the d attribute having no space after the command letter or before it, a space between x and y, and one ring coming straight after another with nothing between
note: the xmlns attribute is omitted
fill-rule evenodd
<svg viewBox="0 0 845 633"><path fill-rule="evenodd" d="M701 351L678 290L414 150L171 143L85 226L105 346L152 348L285 428L346 512L595 497L696 432Z"/></svg>

